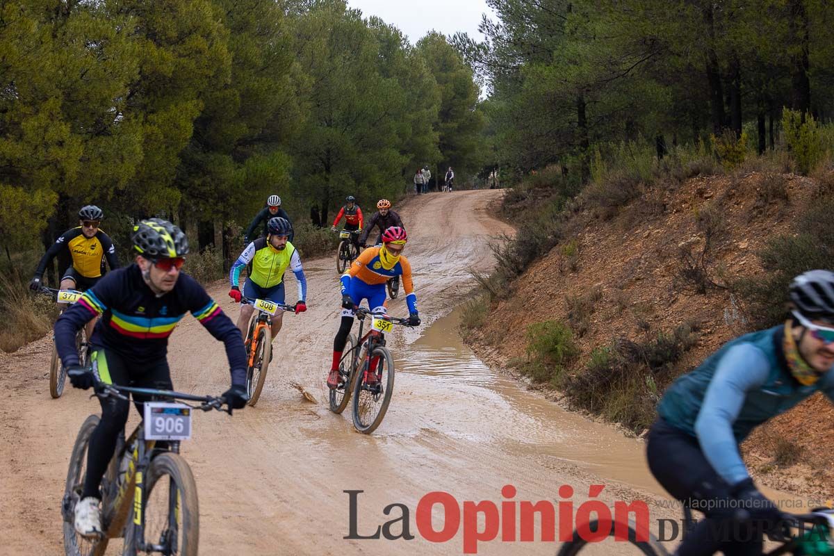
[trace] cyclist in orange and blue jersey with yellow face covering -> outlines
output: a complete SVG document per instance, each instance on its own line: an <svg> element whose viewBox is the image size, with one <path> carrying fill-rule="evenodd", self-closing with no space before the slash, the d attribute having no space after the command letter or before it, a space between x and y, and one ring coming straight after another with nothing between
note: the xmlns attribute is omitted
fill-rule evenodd
<svg viewBox="0 0 834 556"><path fill-rule="evenodd" d="M394 276L403 277L405 303L409 307L409 324L420 324L417 296L411 282L411 264L402 253L408 236L403 228L391 227L382 234L382 246L365 249L342 275L342 323L333 340L333 365L327 377L328 388L339 386L339 360L350 328L354 325L354 307L368 300L373 313L385 313L385 283ZM371 362L373 366L374 362Z"/></svg>

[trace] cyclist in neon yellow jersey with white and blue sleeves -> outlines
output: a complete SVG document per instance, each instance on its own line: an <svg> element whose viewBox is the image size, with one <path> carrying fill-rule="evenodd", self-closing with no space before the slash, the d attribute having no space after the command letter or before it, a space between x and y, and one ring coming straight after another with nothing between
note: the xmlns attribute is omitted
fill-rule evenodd
<svg viewBox="0 0 834 556"><path fill-rule="evenodd" d="M267 230L269 232L267 237L249 243L232 265L232 270L229 272L229 282L232 285L229 297L233 298L235 303L240 303L242 297L238 285L240 271L249 265L249 277L244 283L243 297L284 303L284 271L290 268L299 283L299 301L295 303L295 313L304 313L307 310L307 304L304 301L307 298L307 278L304 278L304 268L301 266L299 252L288 241L292 226L285 218L276 217L269 220ZM253 310L252 305L244 305L240 308L238 328L244 338ZM281 329L283 317L284 312L279 311L272 319L273 339Z"/></svg>

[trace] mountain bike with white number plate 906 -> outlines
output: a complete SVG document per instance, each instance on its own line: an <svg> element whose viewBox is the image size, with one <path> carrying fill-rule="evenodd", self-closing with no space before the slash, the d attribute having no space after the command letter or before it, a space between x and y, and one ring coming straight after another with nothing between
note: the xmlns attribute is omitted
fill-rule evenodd
<svg viewBox="0 0 834 556"><path fill-rule="evenodd" d="M98 383L96 395L127 400L127 393L153 397L144 403L144 418L127 440L121 433L113 459L101 483L102 529L99 538L85 538L73 525L87 474L90 436L100 418L90 415L81 425L69 459L61 514L67 556L100 556L111 538L124 538L123 556L137 553L198 553L199 508L191 468L179 454L179 444L191 438L192 409L224 409L224 398L194 396L170 390ZM197 402L160 402L158 399ZM133 510L131 512L131 510Z"/></svg>

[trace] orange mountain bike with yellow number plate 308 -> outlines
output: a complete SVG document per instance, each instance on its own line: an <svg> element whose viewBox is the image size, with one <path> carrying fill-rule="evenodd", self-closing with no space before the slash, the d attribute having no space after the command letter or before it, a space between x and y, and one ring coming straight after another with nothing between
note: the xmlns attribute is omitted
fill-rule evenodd
<svg viewBox="0 0 834 556"><path fill-rule="evenodd" d="M246 333L246 393L249 405L258 403L260 391L264 388L266 371L272 361L272 317L279 309L294 311L293 305L277 303L268 299L240 298L240 303L248 303L258 309L257 316L249 320L249 332Z"/></svg>

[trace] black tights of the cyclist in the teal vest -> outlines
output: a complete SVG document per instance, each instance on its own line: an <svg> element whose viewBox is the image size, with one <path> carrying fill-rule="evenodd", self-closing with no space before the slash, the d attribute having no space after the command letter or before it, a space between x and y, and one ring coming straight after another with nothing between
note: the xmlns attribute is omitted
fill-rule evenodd
<svg viewBox="0 0 834 556"><path fill-rule="evenodd" d="M726 556L761 554L761 530L756 533L753 524L733 518L734 510L727 503L732 498L730 485L706 460L697 438L658 418L649 430L646 456L663 488L706 515L693 513L701 520L686 534L676 556L707 556L719 550Z"/></svg>

